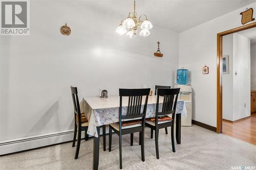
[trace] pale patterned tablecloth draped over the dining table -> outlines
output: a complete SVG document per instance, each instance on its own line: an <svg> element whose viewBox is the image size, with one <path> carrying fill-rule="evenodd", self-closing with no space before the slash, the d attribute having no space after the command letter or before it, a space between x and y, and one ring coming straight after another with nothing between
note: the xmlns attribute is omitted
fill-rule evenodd
<svg viewBox="0 0 256 170"><path fill-rule="evenodd" d="M143 98L144 99L144 98ZM97 126L108 125L119 122L119 96L109 96L109 98L89 97L82 99L80 103L81 113L85 113L89 121L87 133L98 137ZM159 110L162 110L163 97L159 99ZM143 104L142 100L142 104ZM122 114L125 115L128 105L128 98L122 98ZM143 105L142 105L143 107ZM156 95L148 96L146 118L155 117ZM176 114L186 117L186 107L182 100L178 100Z"/></svg>

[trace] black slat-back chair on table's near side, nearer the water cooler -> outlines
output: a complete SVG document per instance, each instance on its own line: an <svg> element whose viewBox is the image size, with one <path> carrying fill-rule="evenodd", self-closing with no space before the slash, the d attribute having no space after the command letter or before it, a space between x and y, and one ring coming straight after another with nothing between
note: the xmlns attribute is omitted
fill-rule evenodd
<svg viewBox="0 0 256 170"><path fill-rule="evenodd" d="M174 143L174 119L175 112L177 106L178 95L180 92L180 88L173 89L158 89L157 93L157 104L156 104L156 117L147 118L145 126L151 128L151 130L155 130L155 143L156 143L156 157L159 159L159 150L158 150L158 134L159 129L162 128L171 128L170 136L172 138L172 148L173 152L175 151L175 143ZM162 111L159 112L159 98L163 96L163 104ZM167 116L168 114L172 114L172 117ZM159 121L163 120L163 121Z"/></svg>

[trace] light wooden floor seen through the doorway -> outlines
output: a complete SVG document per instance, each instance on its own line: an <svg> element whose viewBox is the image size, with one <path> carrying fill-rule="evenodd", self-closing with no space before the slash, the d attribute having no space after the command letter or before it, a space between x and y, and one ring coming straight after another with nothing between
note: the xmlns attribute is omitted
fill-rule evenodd
<svg viewBox="0 0 256 170"><path fill-rule="evenodd" d="M222 133L256 145L256 113L234 123L223 119Z"/></svg>

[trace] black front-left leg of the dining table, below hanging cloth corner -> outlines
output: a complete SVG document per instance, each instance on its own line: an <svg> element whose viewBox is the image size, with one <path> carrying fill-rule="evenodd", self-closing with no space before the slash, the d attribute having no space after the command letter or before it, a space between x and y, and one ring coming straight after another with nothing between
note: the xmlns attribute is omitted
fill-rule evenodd
<svg viewBox="0 0 256 170"><path fill-rule="evenodd" d="M98 132L98 137L93 138L93 169L97 170L99 166L99 132L100 127L96 127Z"/></svg>

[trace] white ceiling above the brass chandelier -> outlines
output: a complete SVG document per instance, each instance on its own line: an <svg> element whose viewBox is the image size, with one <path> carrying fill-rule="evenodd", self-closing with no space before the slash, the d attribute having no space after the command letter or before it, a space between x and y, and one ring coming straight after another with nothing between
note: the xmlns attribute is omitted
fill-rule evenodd
<svg viewBox="0 0 256 170"><path fill-rule="evenodd" d="M100 0L97 3L86 1L88 2L97 9L114 13L120 20L133 12L133 0ZM153 26L179 33L254 2L255 0L137 0L136 12L139 16L146 14Z"/></svg>

